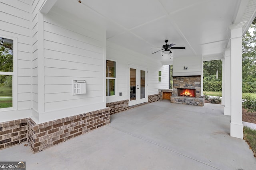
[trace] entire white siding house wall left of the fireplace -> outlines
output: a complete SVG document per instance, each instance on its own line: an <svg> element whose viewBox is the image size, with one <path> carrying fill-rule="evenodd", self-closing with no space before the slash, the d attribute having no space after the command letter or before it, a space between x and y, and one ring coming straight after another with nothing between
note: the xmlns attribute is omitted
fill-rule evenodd
<svg viewBox="0 0 256 170"><path fill-rule="evenodd" d="M129 99L128 64L147 68L146 95L168 88L168 65L112 43L106 49L105 29L74 20L56 7L44 15L39 12L43 3L0 0L0 35L13 37L18 44L17 93L13 94L17 109L0 111L1 122L31 117L43 123L105 108L106 59L117 63L117 95L107 102ZM86 80L86 94L73 95L72 80Z"/></svg>

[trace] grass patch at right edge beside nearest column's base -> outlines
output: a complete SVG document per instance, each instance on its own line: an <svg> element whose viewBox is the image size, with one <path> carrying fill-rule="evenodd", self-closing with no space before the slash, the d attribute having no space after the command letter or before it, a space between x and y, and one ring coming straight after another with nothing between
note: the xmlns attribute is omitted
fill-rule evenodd
<svg viewBox="0 0 256 170"><path fill-rule="evenodd" d="M254 151L254 156L256 156L256 130L244 126L244 139L249 143L250 149Z"/></svg>

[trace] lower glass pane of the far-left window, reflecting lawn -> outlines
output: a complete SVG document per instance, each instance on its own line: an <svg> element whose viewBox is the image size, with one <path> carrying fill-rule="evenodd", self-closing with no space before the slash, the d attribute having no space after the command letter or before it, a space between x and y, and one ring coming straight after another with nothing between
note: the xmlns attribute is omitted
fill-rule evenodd
<svg viewBox="0 0 256 170"><path fill-rule="evenodd" d="M12 75L0 75L0 108L12 107Z"/></svg>

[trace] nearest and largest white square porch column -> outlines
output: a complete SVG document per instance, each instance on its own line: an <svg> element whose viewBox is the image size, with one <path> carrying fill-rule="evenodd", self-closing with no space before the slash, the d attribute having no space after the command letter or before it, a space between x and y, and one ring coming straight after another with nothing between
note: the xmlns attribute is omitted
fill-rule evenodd
<svg viewBox="0 0 256 170"><path fill-rule="evenodd" d="M242 26L231 29L231 121L230 136L243 139L242 124Z"/></svg>

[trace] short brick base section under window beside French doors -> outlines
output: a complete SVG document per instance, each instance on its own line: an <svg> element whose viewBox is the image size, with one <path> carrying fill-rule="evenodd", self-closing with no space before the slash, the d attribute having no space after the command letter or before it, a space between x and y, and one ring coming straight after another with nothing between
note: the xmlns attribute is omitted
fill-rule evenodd
<svg viewBox="0 0 256 170"><path fill-rule="evenodd" d="M118 102L110 102L106 104L106 107L110 107L110 115L119 113L121 111L128 110L128 102L129 100L121 100Z"/></svg>

